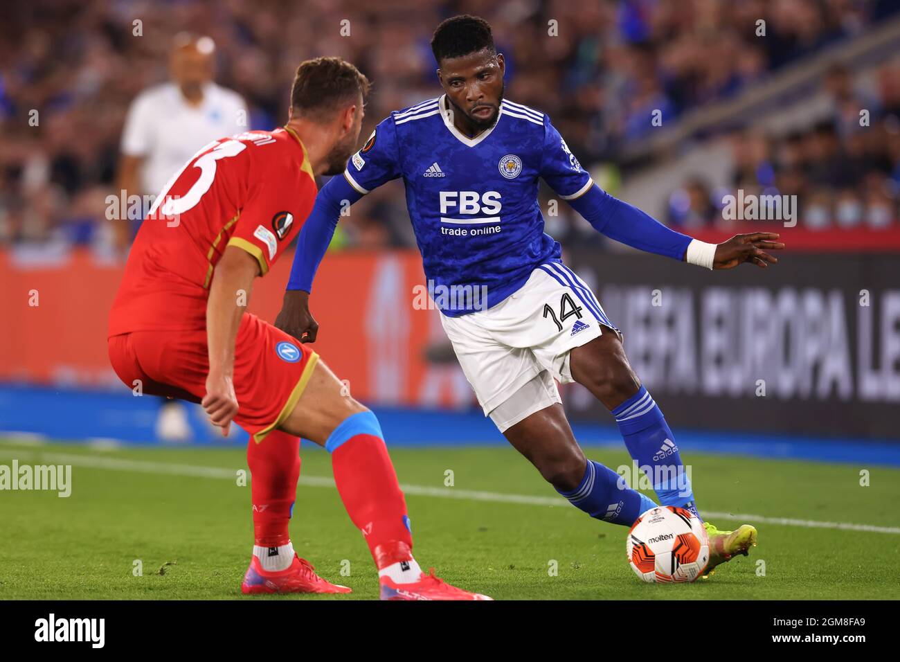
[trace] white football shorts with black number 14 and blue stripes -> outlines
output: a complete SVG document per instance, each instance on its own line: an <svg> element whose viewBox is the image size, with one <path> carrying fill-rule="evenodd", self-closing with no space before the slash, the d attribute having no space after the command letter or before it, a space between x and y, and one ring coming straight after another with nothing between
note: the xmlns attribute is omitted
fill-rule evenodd
<svg viewBox="0 0 900 662"><path fill-rule="evenodd" d="M554 379L572 382L570 350L597 338L603 326L618 333L590 287L560 262L536 268L502 303L442 314L441 323L485 415L541 373L560 402Z"/></svg>

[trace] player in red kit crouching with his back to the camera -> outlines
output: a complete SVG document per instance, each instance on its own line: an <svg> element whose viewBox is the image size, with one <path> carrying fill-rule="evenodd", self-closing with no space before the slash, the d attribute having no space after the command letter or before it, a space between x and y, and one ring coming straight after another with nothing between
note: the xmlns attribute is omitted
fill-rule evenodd
<svg viewBox="0 0 900 662"><path fill-rule="evenodd" d="M422 572L374 413L304 344L312 339L246 312L253 281L311 212L315 177L341 173L355 150L368 89L342 59L307 60L283 129L213 141L175 173L131 249L110 313L110 362L129 388L200 403L224 435L231 422L250 433L255 540L243 593L350 592L293 549L302 437L331 454L383 600L490 599Z"/></svg>

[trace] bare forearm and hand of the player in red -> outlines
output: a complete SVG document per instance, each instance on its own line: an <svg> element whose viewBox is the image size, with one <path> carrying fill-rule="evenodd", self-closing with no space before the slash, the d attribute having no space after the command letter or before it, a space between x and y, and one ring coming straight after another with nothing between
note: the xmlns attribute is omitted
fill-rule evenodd
<svg viewBox="0 0 900 662"><path fill-rule="evenodd" d="M206 303L206 339L210 374L206 377L203 409L210 421L227 437L231 419L238 413L234 394L234 343L240 318L247 310L253 279L259 275L259 262L246 250L228 246L222 254L210 285Z"/></svg>

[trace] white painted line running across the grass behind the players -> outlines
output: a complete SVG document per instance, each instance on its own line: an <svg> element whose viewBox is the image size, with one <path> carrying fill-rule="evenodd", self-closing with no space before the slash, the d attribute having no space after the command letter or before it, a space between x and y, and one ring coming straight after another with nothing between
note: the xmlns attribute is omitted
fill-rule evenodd
<svg viewBox="0 0 900 662"><path fill-rule="evenodd" d="M25 450L25 455L39 455L32 449ZM7 449L0 450L0 457L19 457ZM40 458L51 464L68 464L73 467L87 467L94 469L109 469L112 471L134 471L142 474L157 474L165 476L193 476L198 478L227 478L234 480L237 477L237 469L225 467L200 467L197 465L181 465L171 462L150 462L148 460L133 460L121 458L94 458L86 455L74 455L66 453L40 453ZM21 461L21 457L19 458ZM331 487L335 485L334 479L328 476L300 476L300 485L307 487ZM554 496L530 496L528 494L500 494L497 492L481 492L477 490L464 490L456 487L428 487L427 485L401 485L406 494L415 496L437 496L444 499L464 499L468 501L481 501L488 503L520 503L523 505L562 506L565 504L563 497ZM735 514L733 512L704 511L708 518L729 521L756 521L763 524L777 524L779 526L798 526L806 529L833 529L835 531L864 531L867 533L889 533L900 535L900 527L875 526L873 524L854 524L846 521L815 521L797 520L789 517L767 517L765 515L751 515L746 513Z"/></svg>

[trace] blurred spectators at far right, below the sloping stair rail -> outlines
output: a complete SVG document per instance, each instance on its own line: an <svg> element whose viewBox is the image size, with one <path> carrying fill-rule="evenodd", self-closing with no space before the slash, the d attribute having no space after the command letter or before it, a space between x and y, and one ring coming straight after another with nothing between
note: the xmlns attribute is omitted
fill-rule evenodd
<svg viewBox="0 0 900 662"><path fill-rule="evenodd" d="M833 112L804 131L780 138L760 131L730 136L733 171L725 193L797 195L800 222L811 230L869 228L900 223L900 66L876 70L878 96L858 92L848 72L829 68L824 91ZM867 122L860 111L868 111ZM670 221L704 224L696 213L696 184L673 191ZM713 204L716 204L714 195ZM708 224L726 225L714 213Z"/></svg>

